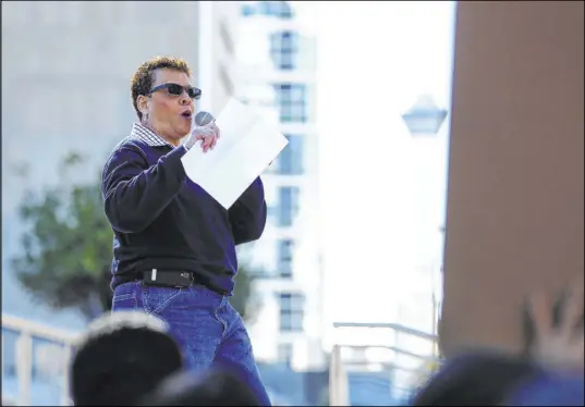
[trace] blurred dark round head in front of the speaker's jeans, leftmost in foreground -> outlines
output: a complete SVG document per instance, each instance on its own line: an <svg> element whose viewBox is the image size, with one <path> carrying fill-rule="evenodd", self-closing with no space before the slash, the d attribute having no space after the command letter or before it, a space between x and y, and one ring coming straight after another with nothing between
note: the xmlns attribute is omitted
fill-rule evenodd
<svg viewBox="0 0 585 407"><path fill-rule="evenodd" d="M73 403L127 406L182 367L164 322L143 312L118 311L93 322L76 346Z"/></svg>

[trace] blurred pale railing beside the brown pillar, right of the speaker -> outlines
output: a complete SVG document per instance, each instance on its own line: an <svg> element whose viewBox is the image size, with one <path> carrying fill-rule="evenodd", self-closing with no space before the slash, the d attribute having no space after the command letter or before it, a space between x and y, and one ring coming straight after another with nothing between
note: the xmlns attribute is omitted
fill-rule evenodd
<svg viewBox="0 0 585 407"><path fill-rule="evenodd" d="M378 365L388 371L403 371L412 375L412 384L410 388L404 388L406 392L411 392L418 383L416 379L423 374L431 372L432 367L438 366L439 355L437 346L437 335L427 332L417 331L404 325L395 323L354 323L354 322L337 322L334 328L367 328L367 329L386 329L391 330L394 333L400 333L410 337L416 337L423 341L430 342L430 353L427 355L418 355L416 353L403 349L399 346L383 346L383 345L350 345L350 344L337 344L333 346L330 360L329 370L329 405L330 406L350 406L351 405L351 390L350 388L350 375L349 371L352 369L354 372L356 366L367 366L370 363ZM401 366L400 362L373 362L367 360L353 360L346 361L342 358L342 349L368 349L368 348L385 348L393 351L394 356L406 356L411 359L418 360L418 369L412 369ZM388 379L390 381L390 379ZM386 405L386 404L385 404Z"/></svg>

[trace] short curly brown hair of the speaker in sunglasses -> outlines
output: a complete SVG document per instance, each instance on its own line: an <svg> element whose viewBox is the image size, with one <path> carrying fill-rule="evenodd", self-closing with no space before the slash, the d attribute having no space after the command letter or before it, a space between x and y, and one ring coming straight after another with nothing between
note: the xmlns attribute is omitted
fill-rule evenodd
<svg viewBox="0 0 585 407"><path fill-rule="evenodd" d="M143 62L143 64L138 66L138 70L136 70L134 76L132 76L132 81L130 82L132 104L134 106L134 110L136 110L138 120L142 120L143 114L138 110L136 99L141 95L148 95L148 92L153 88L153 82L155 81L154 73L155 71L161 69L181 71L187 74L187 76L191 76L191 69L188 67L188 63L186 63L186 61L182 60L181 58L155 57L146 62Z"/></svg>

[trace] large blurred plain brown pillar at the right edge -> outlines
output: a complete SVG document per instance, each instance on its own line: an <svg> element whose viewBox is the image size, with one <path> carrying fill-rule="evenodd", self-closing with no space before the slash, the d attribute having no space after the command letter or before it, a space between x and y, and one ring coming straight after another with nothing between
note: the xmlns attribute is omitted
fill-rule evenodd
<svg viewBox="0 0 585 407"><path fill-rule="evenodd" d="M583 279L582 1L460 1L440 341L517 350L533 289Z"/></svg>

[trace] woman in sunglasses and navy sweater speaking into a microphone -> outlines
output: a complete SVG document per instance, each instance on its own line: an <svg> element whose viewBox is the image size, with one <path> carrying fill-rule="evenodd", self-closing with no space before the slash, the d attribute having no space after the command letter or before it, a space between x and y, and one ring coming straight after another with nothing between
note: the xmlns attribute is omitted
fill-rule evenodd
<svg viewBox="0 0 585 407"><path fill-rule="evenodd" d="M188 368L236 363L261 405L270 405L247 331L228 301L235 245L259 238L266 224L263 183L256 178L226 210L186 176L181 157L191 148L211 151L220 132L215 123L192 131L202 91L191 85L185 61L146 61L131 94L138 122L102 173L114 232L112 311L156 314L169 323Z"/></svg>

